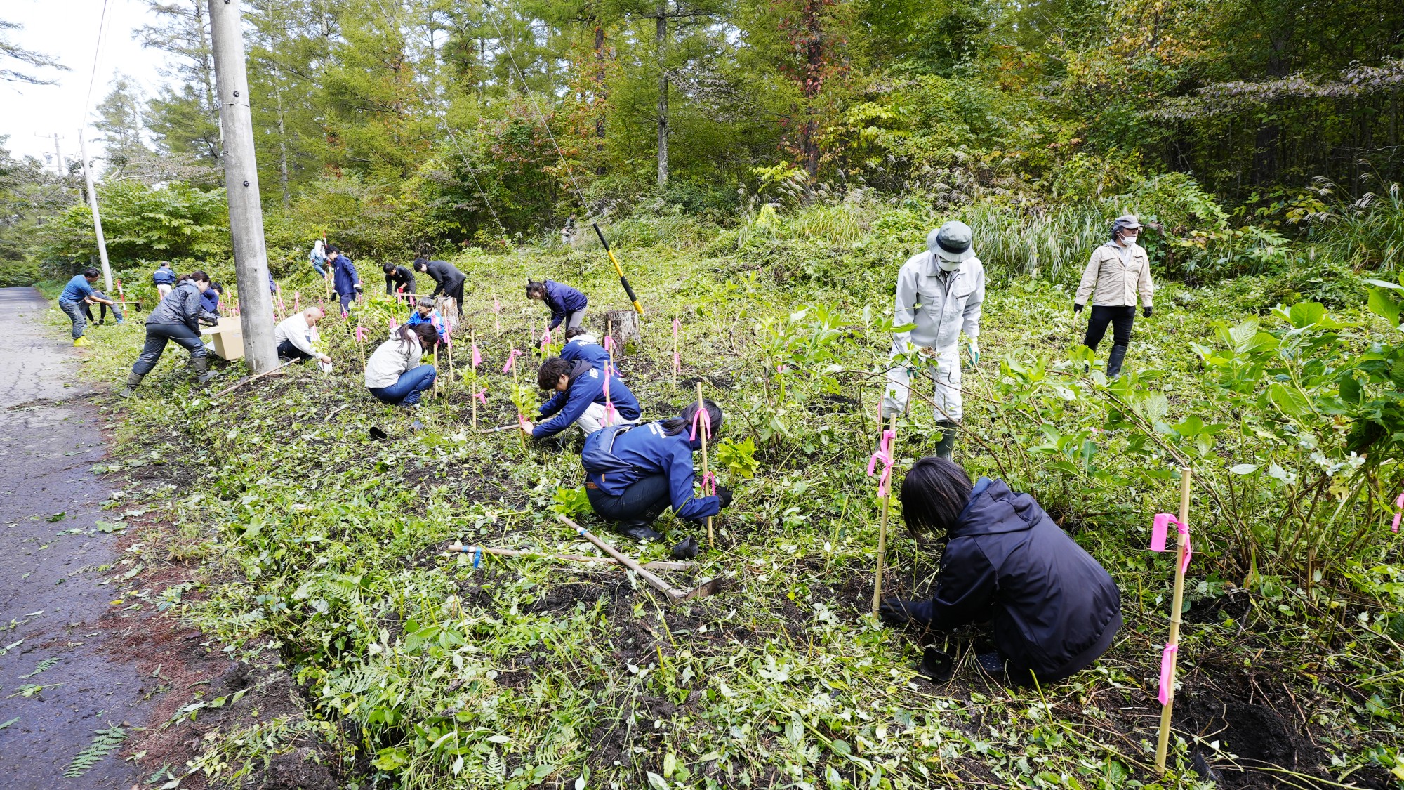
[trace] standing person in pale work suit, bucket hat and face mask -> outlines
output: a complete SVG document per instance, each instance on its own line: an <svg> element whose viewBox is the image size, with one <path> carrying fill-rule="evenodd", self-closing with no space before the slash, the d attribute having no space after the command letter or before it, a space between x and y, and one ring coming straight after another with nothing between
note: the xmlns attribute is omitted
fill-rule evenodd
<svg viewBox="0 0 1404 790"><path fill-rule="evenodd" d="M956 426L965 416L960 401L960 333L967 337L970 364L980 361L980 305L984 302L984 264L974 256L970 226L946 222L927 236L927 252L911 256L897 273L893 322L914 323L893 336L883 419L907 410L911 375L935 382L935 416L942 429L936 454L949 458Z"/></svg>

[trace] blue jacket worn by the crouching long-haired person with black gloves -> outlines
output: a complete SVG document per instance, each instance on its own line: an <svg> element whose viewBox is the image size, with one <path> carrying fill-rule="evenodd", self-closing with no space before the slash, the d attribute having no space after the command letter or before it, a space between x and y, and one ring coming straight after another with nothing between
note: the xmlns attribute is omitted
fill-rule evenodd
<svg viewBox="0 0 1404 790"><path fill-rule="evenodd" d="M668 478L668 499L673 514L696 522L722 512L722 500L716 496L694 496L692 484L696 477L692 470L692 453L702 447L702 439L688 440L688 430L668 436L661 423L647 423L632 427L607 427L585 439L581 462L585 464L585 479L609 496L619 496L626 488L646 477L665 475ZM595 467L591 457L608 454L608 467ZM601 471L602 470L602 471Z"/></svg>

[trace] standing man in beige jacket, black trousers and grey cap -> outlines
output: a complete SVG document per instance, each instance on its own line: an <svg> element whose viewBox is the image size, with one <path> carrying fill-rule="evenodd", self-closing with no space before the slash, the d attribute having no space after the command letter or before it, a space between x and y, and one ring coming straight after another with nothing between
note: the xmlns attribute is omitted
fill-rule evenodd
<svg viewBox="0 0 1404 790"><path fill-rule="evenodd" d="M1122 360L1126 346L1132 342L1132 323L1136 322L1136 295L1140 294L1143 315L1150 318L1151 295L1155 285L1150 281L1150 259L1146 249L1136 243L1141 224L1134 214L1118 216L1112 222L1112 240L1092 250L1092 257L1082 271L1082 281L1073 297L1073 312L1082 312L1082 305L1092 297L1092 316L1087 322L1087 337L1082 344L1097 350L1112 325L1112 356L1106 360L1106 377L1122 377ZM1095 291L1095 297L1094 297Z"/></svg>

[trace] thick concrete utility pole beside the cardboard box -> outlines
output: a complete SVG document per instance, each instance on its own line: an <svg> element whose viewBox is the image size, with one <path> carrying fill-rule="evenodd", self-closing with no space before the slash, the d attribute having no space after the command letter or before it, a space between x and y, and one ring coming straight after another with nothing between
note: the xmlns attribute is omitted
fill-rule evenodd
<svg viewBox="0 0 1404 790"><path fill-rule="evenodd" d="M268 291L268 250L264 247L258 163L254 159L253 111L239 0L209 0L209 32L219 83L219 127L225 139L225 193L229 229L234 240L239 318L244 335L244 363L250 373L278 364L272 342L272 294Z"/></svg>

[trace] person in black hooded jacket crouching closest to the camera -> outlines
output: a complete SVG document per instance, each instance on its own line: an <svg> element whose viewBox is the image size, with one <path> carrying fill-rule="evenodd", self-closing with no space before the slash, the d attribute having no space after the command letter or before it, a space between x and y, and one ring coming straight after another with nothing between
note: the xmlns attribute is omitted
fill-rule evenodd
<svg viewBox="0 0 1404 790"><path fill-rule="evenodd" d="M901 481L901 513L913 534L945 530L941 581L931 600L889 597L880 614L948 631L991 623L998 655L980 656L1015 683L1052 683L1098 659L1122 626L1112 576L1028 493L970 477L935 455Z"/></svg>

